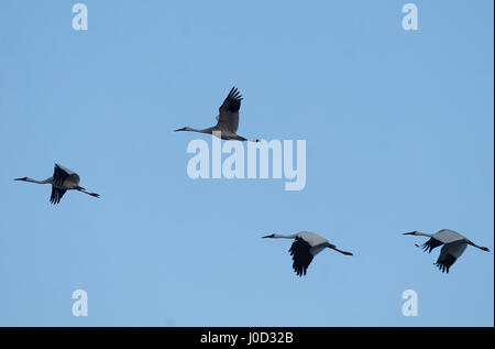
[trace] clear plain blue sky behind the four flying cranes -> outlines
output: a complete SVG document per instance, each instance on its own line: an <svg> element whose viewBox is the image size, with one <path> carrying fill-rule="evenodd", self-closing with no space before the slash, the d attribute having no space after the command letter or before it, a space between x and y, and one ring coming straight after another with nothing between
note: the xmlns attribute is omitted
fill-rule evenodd
<svg viewBox="0 0 495 349"><path fill-rule="evenodd" d="M493 1L0 2L1 326L493 326L494 253L449 274L402 232L494 246ZM239 133L307 141L307 184L187 176L235 85ZM54 163L100 199L57 206ZM326 250L305 277L289 240ZM87 291L89 316L72 294ZM418 293L405 317L402 294Z"/></svg>

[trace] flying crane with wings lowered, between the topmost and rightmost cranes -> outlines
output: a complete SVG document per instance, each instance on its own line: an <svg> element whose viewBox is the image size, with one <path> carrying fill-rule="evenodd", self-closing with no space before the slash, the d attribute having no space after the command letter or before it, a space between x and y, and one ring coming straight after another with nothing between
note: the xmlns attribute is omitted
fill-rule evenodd
<svg viewBox="0 0 495 349"><path fill-rule="evenodd" d="M306 275L307 269L314 257L326 248L330 248L345 255L352 255L351 252L337 249L337 247L330 243L327 239L311 231L300 231L289 236L273 233L263 238L295 239L289 252L294 261L293 269L299 276Z"/></svg>

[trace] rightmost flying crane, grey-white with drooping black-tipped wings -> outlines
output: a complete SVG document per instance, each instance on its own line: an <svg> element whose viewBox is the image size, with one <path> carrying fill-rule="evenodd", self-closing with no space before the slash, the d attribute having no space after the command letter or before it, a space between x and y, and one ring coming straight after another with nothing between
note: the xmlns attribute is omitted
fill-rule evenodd
<svg viewBox="0 0 495 349"><path fill-rule="evenodd" d="M449 273L450 268L453 263L462 255L465 251L468 244L471 244L475 248L479 248L483 251L490 251L488 248L480 247L472 242L470 239L464 237L463 235L450 230L442 229L437 231L436 233L427 233L421 231L413 231L406 232L404 235L419 236L419 237L429 237L430 240L425 242L421 248L429 253L437 247L441 246L442 249L440 251L440 255L435 263L442 272ZM419 246L417 246L419 247Z"/></svg>

